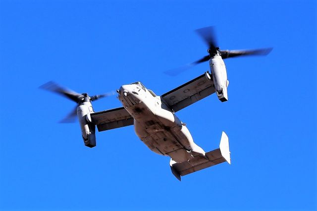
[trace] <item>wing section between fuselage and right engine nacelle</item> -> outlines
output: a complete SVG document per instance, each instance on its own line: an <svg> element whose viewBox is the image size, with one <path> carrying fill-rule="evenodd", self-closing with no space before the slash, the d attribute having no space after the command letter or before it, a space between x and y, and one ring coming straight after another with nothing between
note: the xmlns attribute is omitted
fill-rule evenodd
<svg viewBox="0 0 317 211"><path fill-rule="evenodd" d="M176 112L206 98L214 92L212 77L206 72L160 97Z"/></svg>

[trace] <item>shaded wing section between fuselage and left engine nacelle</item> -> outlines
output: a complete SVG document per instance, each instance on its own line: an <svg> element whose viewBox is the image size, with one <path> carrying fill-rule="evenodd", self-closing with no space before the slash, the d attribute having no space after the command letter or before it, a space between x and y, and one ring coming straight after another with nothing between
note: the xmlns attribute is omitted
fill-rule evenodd
<svg viewBox="0 0 317 211"><path fill-rule="evenodd" d="M124 107L99 111L90 115L99 132L133 125L133 117Z"/></svg>

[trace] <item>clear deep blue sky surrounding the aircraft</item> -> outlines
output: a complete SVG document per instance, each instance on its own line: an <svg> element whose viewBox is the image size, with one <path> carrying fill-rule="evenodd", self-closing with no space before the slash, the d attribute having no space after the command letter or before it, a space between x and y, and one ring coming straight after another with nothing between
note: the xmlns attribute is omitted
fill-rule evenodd
<svg viewBox="0 0 317 211"><path fill-rule="evenodd" d="M0 0L0 210L316 210L316 14L314 0ZM223 50L274 48L225 60L228 102L177 113L205 151L225 131L231 165L179 182L132 126L87 148L78 122L57 123L73 102L38 89L163 94L208 70L163 74L206 54L194 30L211 25Z"/></svg>

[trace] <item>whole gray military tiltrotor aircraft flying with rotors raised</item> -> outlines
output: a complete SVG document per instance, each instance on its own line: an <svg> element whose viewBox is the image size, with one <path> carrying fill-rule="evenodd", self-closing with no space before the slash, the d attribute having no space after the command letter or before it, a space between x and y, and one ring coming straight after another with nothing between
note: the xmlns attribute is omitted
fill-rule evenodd
<svg viewBox="0 0 317 211"><path fill-rule="evenodd" d="M217 94L221 102L227 101L228 80L222 59L238 55L266 54L268 50L220 51L211 30L208 27L198 31L209 45L209 55L193 63L209 60L211 73L205 72L161 96L154 94L141 82L122 85L117 90L122 107L95 112L91 102L109 94L90 97L87 93L78 94L53 82L44 84L41 88L62 94L77 104L76 110L63 122L73 119L77 114L87 147L96 146L96 126L101 132L134 125L137 136L144 144L153 152L171 158L171 171L179 180L181 176L224 161L230 164L229 140L224 132L219 148L206 153L194 143L186 124L175 112L213 93Z"/></svg>

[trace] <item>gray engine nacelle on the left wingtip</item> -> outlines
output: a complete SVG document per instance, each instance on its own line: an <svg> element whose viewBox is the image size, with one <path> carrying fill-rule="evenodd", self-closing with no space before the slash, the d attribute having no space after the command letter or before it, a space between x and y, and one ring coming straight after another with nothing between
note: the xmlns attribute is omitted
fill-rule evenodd
<svg viewBox="0 0 317 211"><path fill-rule="evenodd" d="M96 126L91 123L90 113L93 113L93 107L90 102L84 102L77 107L77 116L82 133L82 137L87 147L96 146Z"/></svg>

